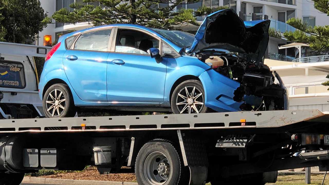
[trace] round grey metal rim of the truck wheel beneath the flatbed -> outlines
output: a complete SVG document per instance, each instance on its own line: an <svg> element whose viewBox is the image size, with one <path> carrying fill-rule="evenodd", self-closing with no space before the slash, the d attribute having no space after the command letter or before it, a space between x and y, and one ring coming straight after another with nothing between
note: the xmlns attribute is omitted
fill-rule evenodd
<svg viewBox="0 0 329 185"><path fill-rule="evenodd" d="M152 185L164 184L170 175L171 167L167 156L162 152L149 154L144 163L146 180Z"/></svg>

